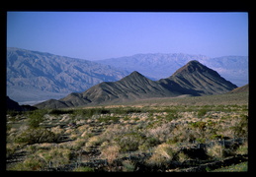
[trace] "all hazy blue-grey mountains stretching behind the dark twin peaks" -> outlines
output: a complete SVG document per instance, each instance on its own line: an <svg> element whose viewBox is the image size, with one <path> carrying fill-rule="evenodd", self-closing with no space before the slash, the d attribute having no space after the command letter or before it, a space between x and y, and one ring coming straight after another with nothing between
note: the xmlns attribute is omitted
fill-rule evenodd
<svg viewBox="0 0 256 177"><path fill-rule="evenodd" d="M20 104L59 99L137 71L146 78L167 78L191 60L213 68L237 86L248 84L248 57L211 59L189 54L137 54L92 62L19 48L7 48L7 95Z"/></svg>

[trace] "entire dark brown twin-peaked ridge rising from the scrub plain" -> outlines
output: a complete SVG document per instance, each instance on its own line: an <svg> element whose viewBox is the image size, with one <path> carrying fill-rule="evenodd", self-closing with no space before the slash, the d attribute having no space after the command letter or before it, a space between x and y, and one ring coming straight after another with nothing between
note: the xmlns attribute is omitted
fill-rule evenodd
<svg viewBox="0 0 256 177"><path fill-rule="evenodd" d="M172 76L151 81L132 72L118 82L103 82L81 93L71 93L59 100L50 99L36 104L38 108L65 108L83 105L122 103L135 99L174 97L179 95L209 95L225 93L237 86L220 77L217 72L193 60Z"/></svg>

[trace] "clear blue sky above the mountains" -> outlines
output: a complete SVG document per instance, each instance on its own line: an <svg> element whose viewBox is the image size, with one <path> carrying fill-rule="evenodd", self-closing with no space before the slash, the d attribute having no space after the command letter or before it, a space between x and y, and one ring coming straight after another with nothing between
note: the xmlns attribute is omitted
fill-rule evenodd
<svg viewBox="0 0 256 177"><path fill-rule="evenodd" d="M7 46L87 60L137 53L248 56L248 14L8 12Z"/></svg>

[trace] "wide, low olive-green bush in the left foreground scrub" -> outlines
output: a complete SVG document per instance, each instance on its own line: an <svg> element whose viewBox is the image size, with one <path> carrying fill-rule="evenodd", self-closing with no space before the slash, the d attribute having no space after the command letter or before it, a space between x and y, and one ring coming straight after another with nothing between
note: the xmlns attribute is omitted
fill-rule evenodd
<svg viewBox="0 0 256 177"><path fill-rule="evenodd" d="M37 144L37 143L53 143L56 142L54 133L43 128L30 128L18 135L15 142L20 144Z"/></svg>

